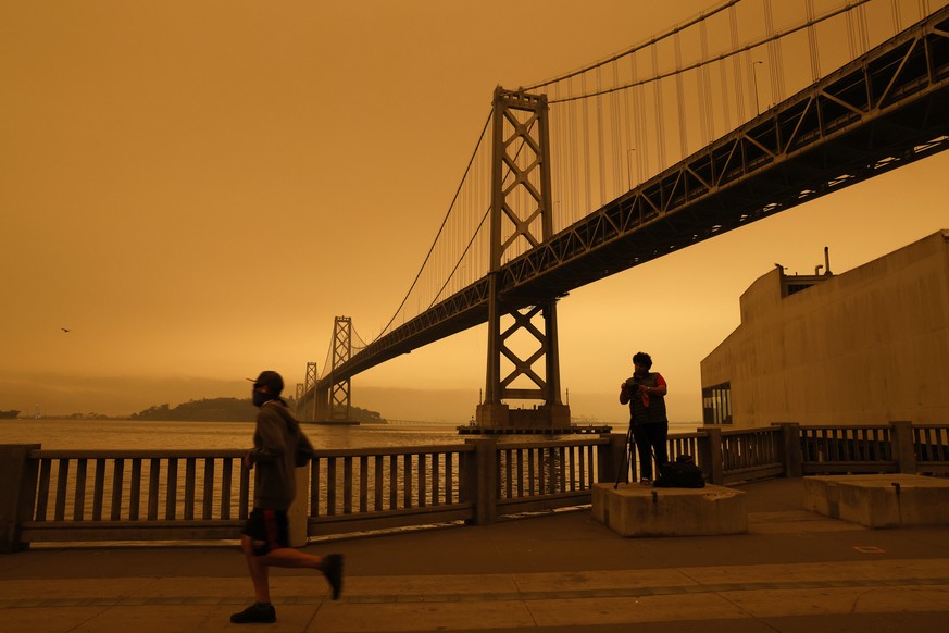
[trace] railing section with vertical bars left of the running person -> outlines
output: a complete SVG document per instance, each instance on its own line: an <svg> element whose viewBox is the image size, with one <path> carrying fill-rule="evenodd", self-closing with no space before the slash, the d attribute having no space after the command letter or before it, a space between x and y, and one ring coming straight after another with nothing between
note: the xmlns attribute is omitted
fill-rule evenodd
<svg viewBox="0 0 949 633"><path fill-rule="evenodd" d="M233 538L252 482L239 450L32 450L26 542Z"/></svg>

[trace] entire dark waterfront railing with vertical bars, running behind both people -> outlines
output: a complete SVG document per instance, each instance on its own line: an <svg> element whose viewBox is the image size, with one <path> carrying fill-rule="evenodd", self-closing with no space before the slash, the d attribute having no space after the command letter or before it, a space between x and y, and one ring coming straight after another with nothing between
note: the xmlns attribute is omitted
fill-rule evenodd
<svg viewBox="0 0 949 633"><path fill-rule="evenodd" d="M597 484L635 481L624 434L317 450L308 536L464 522L589 505ZM707 481L839 473L949 474L949 424L703 427L669 437ZM0 446L0 551L40 542L239 538L253 499L242 450L42 450ZM626 473L619 472L628 463Z"/></svg>

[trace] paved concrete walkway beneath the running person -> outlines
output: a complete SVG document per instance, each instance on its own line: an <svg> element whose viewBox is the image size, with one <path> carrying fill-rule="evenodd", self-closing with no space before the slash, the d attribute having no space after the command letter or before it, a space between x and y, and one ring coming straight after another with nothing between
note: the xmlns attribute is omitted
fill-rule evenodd
<svg viewBox="0 0 949 633"><path fill-rule="evenodd" d="M342 597L273 570L270 625L228 621L252 596L235 545L37 547L0 556L0 632L946 630L949 528L822 518L802 487L741 486L735 536L621 538L579 510L317 543L346 555Z"/></svg>

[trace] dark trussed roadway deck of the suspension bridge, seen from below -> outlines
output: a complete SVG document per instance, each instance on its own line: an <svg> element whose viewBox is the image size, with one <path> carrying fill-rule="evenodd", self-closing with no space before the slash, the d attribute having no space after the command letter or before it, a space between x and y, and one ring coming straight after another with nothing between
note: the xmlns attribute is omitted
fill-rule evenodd
<svg viewBox="0 0 949 633"><path fill-rule="evenodd" d="M508 262L498 273L502 310L564 296L949 148L946 33L949 8ZM488 286L483 277L380 337L333 380L487 322Z"/></svg>

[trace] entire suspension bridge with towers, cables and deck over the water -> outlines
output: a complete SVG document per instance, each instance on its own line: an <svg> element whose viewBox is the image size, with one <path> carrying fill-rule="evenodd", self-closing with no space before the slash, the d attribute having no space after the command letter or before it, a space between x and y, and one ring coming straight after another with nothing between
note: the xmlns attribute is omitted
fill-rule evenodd
<svg viewBox="0 0 949 633"><path fill-rule="evenodd" d="M370 342L336 318L299 413L347 421L354 375L487 323L478 425L569 427L557 302L572 289L947 147L949 7L931 0L727 0L498 87L404 299Z"/></svg>

